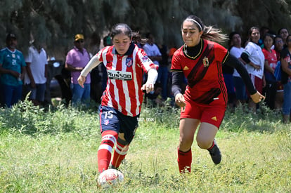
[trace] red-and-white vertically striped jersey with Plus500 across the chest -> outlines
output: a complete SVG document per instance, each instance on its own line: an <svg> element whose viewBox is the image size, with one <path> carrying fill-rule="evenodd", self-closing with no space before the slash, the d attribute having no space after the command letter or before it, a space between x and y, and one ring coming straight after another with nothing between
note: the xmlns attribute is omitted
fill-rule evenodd
<svg viewBox="0 0 291 193"><path fill-rule="evenodd" d="M122 114L135 117L141 112L143 102L143 72L157 66L143 49L135 44L124 55L117 54L114 46L107 46L97 53L107 69L108 81L101 105L113 107Z"/></svg>

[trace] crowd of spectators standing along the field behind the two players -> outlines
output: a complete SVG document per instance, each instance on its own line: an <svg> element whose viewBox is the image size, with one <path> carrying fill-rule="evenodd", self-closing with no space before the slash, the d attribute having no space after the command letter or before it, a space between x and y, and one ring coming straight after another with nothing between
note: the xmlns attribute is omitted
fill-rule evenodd
<svg viewBox="0 0 291 193"><path fill-rule="evenodd" d="M247 39L243 39L240 32L228 34L228 51L231 55L243 62L247 72L250 74L252 83L257 91L266 96L264 104L278 113L283 114L283 122L291 121L291 34L286 28L278 32L268 27L251 27ZM26 96L34 105L44 105L46 88L46 77L48 71L48 55L44 50L44 42L31 41L30 47L25 55L17 49L18 37L14 33L6 36L6 47L0 51L0 102L1 107L11 107ZM171 91L172 72L170 72L172 55L179 46L173 43L155 41L151 33L145 34L146 44L135 42L138 47L143 48L148 57L158 65L158 77L154 91L145 93L145 103L153 106L162 106L165 101L174 105L174 96ZM86 105L91 100L100 101L107 82L107 72L103 65L91 71L91 78L86 79L84 88L79 86L77 78L82 69L89 62L92 53L85 48L85 37L76 34L72 37L73 48L64 57L65 69L70 72L70 91L72 93L71 104ZM111 46L110 36L105 36L103 46ZM277 67L277 68L276 68ZM277 76L276 70L281 74ZM95 71L96 72L95 72ZM232 67L223 67L224 81L228 91L228 109L233 111L239 105L247 106L251 112L257 113L260 108L250 100L243 79ZM92 84L100 84L98 94L92 95L96 89ZM146 75L144 75L146 80ZM184 77L183 85L187 85ZM185 87L183 88L185 90ZM91 94L90 94L91 93ZM92 98L94 96L94 98Z"/></svg>

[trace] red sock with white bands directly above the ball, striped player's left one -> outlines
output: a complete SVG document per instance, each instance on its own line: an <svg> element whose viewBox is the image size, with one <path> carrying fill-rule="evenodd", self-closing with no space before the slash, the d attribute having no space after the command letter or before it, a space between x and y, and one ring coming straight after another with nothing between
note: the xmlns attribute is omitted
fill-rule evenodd
<svg viewBox="0 0 291 193"><path fill-rule="evenodd" d="M98 171L99 173L108 169L111 160L111 152L117 141L118 134L115 131L104 131L102 133L101 145L98 149Z"/></svg>

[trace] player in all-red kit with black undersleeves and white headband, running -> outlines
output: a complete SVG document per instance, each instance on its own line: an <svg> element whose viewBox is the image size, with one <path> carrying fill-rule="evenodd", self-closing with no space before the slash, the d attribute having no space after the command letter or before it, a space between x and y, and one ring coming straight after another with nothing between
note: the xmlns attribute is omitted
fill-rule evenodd
<svg viewBox="0 0 291 193"><path fill-rule="evenodd" d="M243 64L216 43L226 40L220 29L205 26L200 18L190 15L183 21L181 33L185 44L174 53L171 70L172 92L176 104L181 107L178 164L179 171L183 173L190 172L191 146L199 125L198 146L208 149L214 164L221 162L221 152L214 137L224 119L228 100L222 65L238 70L254 102L260 102L264 96L252 85ZM184 94L180 85L183 74L188 80Z"/></svg>

